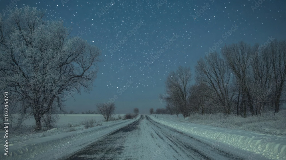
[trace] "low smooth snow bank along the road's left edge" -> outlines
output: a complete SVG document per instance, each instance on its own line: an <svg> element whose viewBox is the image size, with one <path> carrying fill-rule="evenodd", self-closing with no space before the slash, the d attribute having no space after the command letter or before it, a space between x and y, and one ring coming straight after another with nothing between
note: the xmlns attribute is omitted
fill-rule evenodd
<svg viewBox="0 0 286 160"><path fill-rule="evenodd" d="M136 118L138 119L138 118ZM23 157L34 156L38 153L45 152L49 149L55 148L57 145L63 144L63 143L69 143L75 139L80 139L81 137L84 137L85 135L96 133L99 130L113 127L113 126L123 126L128 123L131 123L134 120L124 120L117 123L112 123L110 125L104 125L104 126L97 126L93 128L88 129L82 129L79 131L72 131L68 133L60 133L57 135L51 135L47 137L41 137L38 139L31 139L24 141L23 143L14 143L9 145L9 156L4 155L4 146L0 147L0 159L22 159Z"/></svg>

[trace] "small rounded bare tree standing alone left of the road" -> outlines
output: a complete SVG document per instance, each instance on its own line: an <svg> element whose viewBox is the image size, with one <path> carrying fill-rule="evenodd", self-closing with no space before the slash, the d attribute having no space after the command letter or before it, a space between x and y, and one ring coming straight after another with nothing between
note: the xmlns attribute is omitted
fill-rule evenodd
<svg viewBox="0 0 286 160"><path fill-rule="evenodd" d="M104 117L104 119L106 121L109 121L110 117L115 112L115 104L114 103L110 103L110 104L97 103L96 106L97 106L98 112L102 114L102 116Z"/></svg>

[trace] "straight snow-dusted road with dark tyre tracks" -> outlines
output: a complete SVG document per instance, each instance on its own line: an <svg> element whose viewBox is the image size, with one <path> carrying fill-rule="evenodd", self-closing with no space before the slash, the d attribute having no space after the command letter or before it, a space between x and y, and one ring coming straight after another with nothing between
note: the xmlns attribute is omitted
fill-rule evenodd
<svg viewBox="0 0 286 160"><path fill-rule="evenodd" d="M248 159L245 151L212 144L141 115L133 123L60 159Z"/></svg>

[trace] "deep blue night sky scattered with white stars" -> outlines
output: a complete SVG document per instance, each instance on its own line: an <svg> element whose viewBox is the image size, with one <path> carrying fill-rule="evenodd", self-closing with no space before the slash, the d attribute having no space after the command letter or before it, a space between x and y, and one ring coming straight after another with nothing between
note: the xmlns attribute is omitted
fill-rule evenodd
<svg viewBox="0 0 286 160"><path fill-rule="evenodd" d="M114 102L116 113L132 112L138 107L141 114L147 114L151 107L164 107L158 94L164 93L168 73L179 65L190 67L194 73L196 61L205 56L213 43L223 39L222 35L232 25L238 27L223 39L221 46L239 41L263 44L271 36L286 38L284 0L260 0L257 8L254 0L161 2L164 3L160 4L159 0L19 0L14 7L29 5L46 9L46 20L63 19L66 27L73 27L72 36L80 36L102 50L104 62L99 64L100 72L94 81L97 87L90 94L76 94L76 101L70 98L66 103L67 111L80 113L95 110L95 103L107 103L114 95L118 96ZM10 0L0 1L2 13L10 3ZM106 3L113 5L106 7ZM197 16L206 3L209 7ZM104 7L108 10L102 14ZM197 16L195 20L193 15ZM134 29L136 26L138 29ZM166 42L176 34L179 37L166 47ZM124 44L118 45L117 51L110 50L122 40ZM160 49L164 52L147 65L146 61L150 62L150 57ZM194 74L192 77L194 83ZM130 80L133 83L120 94L120 88Z"/></svg>

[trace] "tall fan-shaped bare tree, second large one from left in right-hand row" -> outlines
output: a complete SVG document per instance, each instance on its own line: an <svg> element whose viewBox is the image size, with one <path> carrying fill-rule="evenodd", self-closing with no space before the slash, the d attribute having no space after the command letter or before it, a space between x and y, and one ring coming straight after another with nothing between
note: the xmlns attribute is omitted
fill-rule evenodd
<svg viewBox="0 0 286 160"><path fill-rule="evenodd" d="M226 114L231 114L234 93L229 89L231 74L225 67L224 60L219 57L217 52L214 52L204 59L199 59L197 63L195 66L196 81L215 93L215 96L211 96L211 94L209 97L213 101L218 101L217 105L223 107Z"/></svg>

